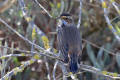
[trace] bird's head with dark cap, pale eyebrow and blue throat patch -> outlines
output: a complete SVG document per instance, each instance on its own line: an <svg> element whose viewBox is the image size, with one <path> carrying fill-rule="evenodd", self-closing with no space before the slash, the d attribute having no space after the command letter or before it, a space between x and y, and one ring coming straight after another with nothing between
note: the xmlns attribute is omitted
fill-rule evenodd
<svg viewBox="0 0 120 80"><path fill-rule="evenodd" d="M59 24L62 25L72 25L73 18L69 13L62 13L59 17Z"/></svg>

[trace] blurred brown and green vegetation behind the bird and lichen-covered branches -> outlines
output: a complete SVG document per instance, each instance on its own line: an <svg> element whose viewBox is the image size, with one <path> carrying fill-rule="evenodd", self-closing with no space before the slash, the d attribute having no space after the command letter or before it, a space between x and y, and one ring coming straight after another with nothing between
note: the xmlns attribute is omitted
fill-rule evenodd
<svg viewBox="0 0 120 80"><path fill-rule="evenodd" d="M52 15L50 18L46 12L41 9L34 0L24 0L27 14L31 17L37 27L48 37L50 46L57 49L56 32L57 20L62 12L69 12L73 15L75 24L79 20L79 0L38 0L42 6ZM112 6L109 0L105 0L109 12L109 18L114 28L120 35L120 15ZM117 7L120 9L120 0L115 0ZM31 39L32 30L29 23L23 17L20 5L17 0L0 0L0 18L6 21L12 28L23 36ZM82 62L84 64L94 66L102 71L120 73L120 43L115 38L111 30L108 28L104 18L104 11L100 0L83 0L80 33L83 40ZM40 36L37 36L36 44L43 47ZM31 45L11 32L0 22L0 46L13 47L15 49L30 51ZM0 48L0 56L5 54L20 54L19 51L12 51ZM9 59L0 60L0 77L5 75L13 68L20 66L20 62L29 60L30 57L11 57ZM53 71L55 60L47 58L50 73ZM4 62L4 63L3 63ZM5 65L3 70L1 67ZM21 73L17 73L11 77L11 80L47 80L47 69L45 60L39 59L38 62L25 68ZM51 80L52 74L50 75ZM107 78L83 72L79 80L107 80ZM62 71L57 66L56 80L62 80ZM68 79L70 80L70 79ZM110 79L109 79L110 80Z"/></svg>

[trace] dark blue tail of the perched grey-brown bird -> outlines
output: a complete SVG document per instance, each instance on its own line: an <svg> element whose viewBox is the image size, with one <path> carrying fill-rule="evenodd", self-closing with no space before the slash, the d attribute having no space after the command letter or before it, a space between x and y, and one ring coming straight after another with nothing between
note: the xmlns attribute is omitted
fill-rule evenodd
<svg viewBox="0 0 120 80"><path fill-rule="evenodd" d="M77 56L75 56L74 54L71 56L71 60L69 63L69 68L70 68L70 72L72 73L76 73L78 71L78 65L77 65Z"/></svg>

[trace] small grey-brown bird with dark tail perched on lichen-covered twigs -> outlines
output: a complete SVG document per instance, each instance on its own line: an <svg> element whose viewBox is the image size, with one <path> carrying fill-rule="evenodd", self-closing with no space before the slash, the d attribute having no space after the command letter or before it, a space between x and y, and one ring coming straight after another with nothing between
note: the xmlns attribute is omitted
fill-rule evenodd
<svg viewBox="0 0 120 80"><path fill-rule="evenodd" d="M70 72L76 73L81 61L82 40L73 17L69 13L62 13L58 18L57 43L64 63L68 63Z"/></svg>

